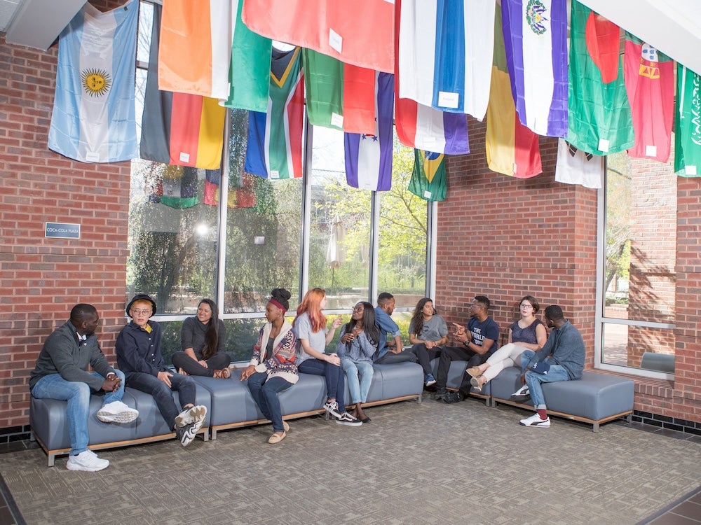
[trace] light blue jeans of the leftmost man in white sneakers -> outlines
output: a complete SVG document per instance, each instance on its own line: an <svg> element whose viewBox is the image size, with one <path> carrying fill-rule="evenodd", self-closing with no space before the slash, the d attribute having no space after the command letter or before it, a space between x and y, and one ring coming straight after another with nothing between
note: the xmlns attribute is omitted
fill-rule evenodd
<svg viewBox="0 0 701 525"><path fill-rule="evenodd" d="M114 392L106 392L102 405L113 401L121 401L124 395L124 374L115 370L121 379L119 388ZM102 377L97 372L94 376ZM57 399L67 401L66 419L68 419L68 434L71 437L71 454L80 454L88 449L88 417L90 416L90 386L83 381L66 381L60 374L45 375L36 381L32 388L36 399Z"/></svg>

